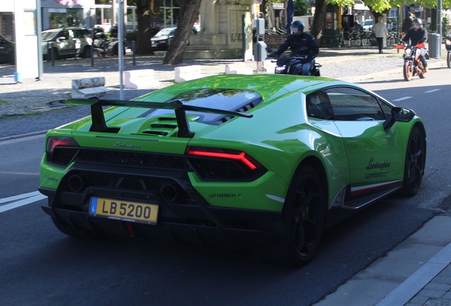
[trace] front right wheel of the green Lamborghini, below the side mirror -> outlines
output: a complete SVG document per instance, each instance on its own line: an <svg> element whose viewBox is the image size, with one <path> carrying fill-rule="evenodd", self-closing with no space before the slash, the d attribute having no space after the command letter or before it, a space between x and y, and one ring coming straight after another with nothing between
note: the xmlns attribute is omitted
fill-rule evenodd
<svg viewBox="0 0 451 306"><path fill-rule="evenodd" d="M423 131L413 127L408 137L402 193L404 196L415 196L423 180L426 161L426 140Z"/></svg>

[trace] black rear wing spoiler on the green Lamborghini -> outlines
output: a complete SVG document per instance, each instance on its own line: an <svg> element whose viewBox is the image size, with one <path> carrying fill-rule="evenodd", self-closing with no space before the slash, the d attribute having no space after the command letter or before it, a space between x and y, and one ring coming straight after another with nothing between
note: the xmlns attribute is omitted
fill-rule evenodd
<svg viewBox="0 0 451 306"><path fill-rule="evenodd" d="M196 111L201 113L216 113L220 115L227 115L230 117L243 117L252 118L253 115L247 113L241 113L238 111L224 111L217 108L204 108L200 106L189 106L183 104L179 100L170 102L145 102L145 101L128 101L128 100L105 100L100 98L72 98L63 101L67 105L79 105L79 106L91 106L91 120L92 125L89 128L89 132L108 132L106 126L103 106L124 106L135 108L163 108L172 109L175 113L177 125L179 130L177 137L192 137L193 133L189 130L188 118L186 117L186 111Z"/></svg>

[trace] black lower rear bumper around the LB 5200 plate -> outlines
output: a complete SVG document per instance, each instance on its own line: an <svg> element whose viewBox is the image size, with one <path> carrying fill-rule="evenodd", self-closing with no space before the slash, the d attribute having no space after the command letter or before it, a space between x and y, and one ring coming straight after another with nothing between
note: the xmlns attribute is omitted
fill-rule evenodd
<svg viewBox="0 0 451 306"><path fill-rule="evenodd" d="M163 204L157 224L147 225L95 217L87 208L79 210L67 205L55 208L52 202L56 192L42 188L40 192L49 198L50 206L42 206L44 212L57 222L99 236L150 237L172 244L245 247L276 242L277 234L261 230L259 225L281 219L281 214L276 212Z"/></svg>

